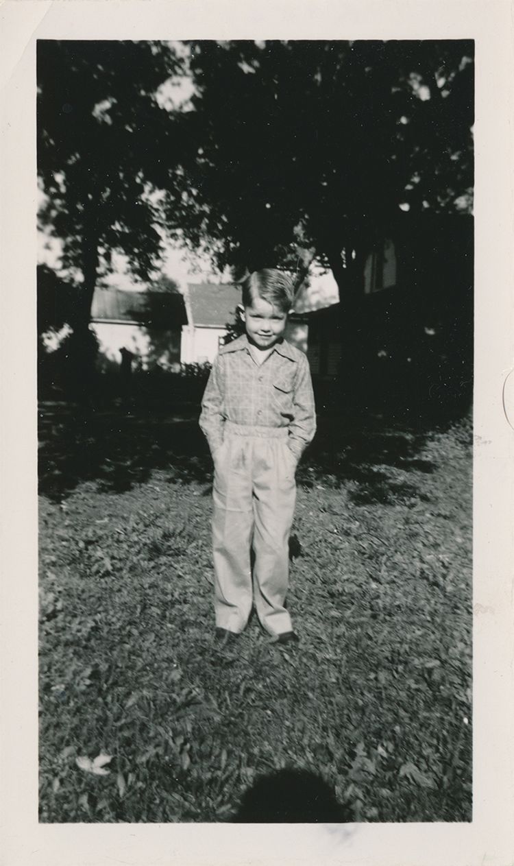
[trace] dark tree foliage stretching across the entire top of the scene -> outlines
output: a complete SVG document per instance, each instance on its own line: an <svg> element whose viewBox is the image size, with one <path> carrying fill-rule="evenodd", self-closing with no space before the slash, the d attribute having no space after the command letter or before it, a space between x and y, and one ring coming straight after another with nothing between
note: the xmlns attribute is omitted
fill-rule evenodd
<svg viewBox="0 0 514 866"><path fill-rule="evenodd" d="M113 250L149 275L157 223L238 273L301 279L317 255L342 288L400 204L469 210L472 57L464 40L39 42L41 216L82 319ZM163 107L181 76L189 107Z"/></svg>

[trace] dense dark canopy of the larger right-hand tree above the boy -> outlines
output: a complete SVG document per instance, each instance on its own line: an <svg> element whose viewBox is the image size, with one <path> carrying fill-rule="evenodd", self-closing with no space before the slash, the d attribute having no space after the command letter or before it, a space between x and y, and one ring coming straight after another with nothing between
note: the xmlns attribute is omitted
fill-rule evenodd
<svg viewBox="0 0 514 866"><path fill-rule="evenodd" d="M194 111L167 223L208 238L219 267L294 268L309 249L343 300L400 204L470 195L472 42L187 44Z"/></svg>

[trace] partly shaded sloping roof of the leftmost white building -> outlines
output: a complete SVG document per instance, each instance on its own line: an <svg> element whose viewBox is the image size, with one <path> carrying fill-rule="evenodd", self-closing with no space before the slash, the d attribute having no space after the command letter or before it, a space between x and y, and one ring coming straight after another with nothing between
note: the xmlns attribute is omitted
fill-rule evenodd
<svg viewBox="0 0 514 866"><path fill-rule="evenodd" d="M97 287L91 310L93 321L126 322L162 328L187 324L183 295L179 292L127 292Z"/></svg>

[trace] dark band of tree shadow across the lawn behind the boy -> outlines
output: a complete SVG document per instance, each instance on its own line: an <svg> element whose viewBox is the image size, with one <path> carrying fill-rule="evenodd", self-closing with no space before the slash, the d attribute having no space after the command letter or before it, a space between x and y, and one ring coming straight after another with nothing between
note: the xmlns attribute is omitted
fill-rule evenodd
<svg viewBox="0 0 514 866"><path fill-rule="evenodd" d="M100 490L121 493L146 481L154 469L168 481L205 483L209 494L212 463L199 410L185 406L172 412L162 405L151 412L127 414L80 410L73 404L43 403L39 412L39 489L62 501L81 481L97 481ZM431 473L434 464L420 457L430 430L408 430L405 423L380 417L319 417L318 433L298 472L299 484L320 482L334 488L355 485L357 505L392 504L419 496L396 469Z"/></svg>

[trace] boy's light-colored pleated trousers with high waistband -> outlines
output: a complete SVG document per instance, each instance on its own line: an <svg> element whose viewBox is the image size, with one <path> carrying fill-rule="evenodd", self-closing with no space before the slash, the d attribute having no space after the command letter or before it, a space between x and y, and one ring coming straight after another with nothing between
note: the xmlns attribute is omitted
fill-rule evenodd
<svg viewBox="0 0 514 866"><path fill-rule="evenodd" d="M296 458L287 436L286 428L227 421L222 446L215 454L215 624L228 631L244 629L252 599L260 623L270 634L292 630L284 604Z"/></svg>

